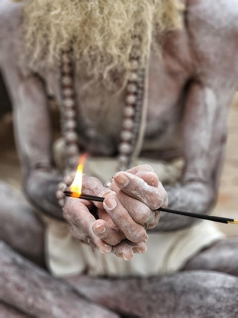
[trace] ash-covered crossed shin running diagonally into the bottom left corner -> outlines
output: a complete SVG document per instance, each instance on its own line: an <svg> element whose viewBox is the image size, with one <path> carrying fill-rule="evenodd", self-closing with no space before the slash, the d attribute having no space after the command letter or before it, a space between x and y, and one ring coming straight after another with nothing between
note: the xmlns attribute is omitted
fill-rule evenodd
<svg viewBox="0 0 238 318"><path fill-rule="evenodd" d="M38 318L118 318L0 242L0 302ZM98 290L99 293L99 290Z"/></svg>

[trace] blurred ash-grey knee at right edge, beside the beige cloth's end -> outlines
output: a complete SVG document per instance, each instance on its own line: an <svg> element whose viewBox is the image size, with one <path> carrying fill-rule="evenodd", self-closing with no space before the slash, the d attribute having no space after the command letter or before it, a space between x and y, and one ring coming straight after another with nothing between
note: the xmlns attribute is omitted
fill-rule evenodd
<svg viewBox="0 0 238 318"><path fill-rule="evenodd" d="M224 238L187 262L184 269L205 269L238 276L238 237Z"/></svg>

